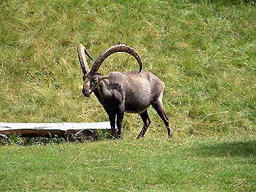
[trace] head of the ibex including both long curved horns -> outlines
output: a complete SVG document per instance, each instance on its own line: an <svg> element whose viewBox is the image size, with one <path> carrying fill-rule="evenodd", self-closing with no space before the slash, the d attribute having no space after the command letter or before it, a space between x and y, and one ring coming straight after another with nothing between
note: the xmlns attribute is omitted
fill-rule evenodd
<svg viewBox="0 0 256 192"><path fill-rule="evenodd" d="M83 77L82 80L84 81L84 85L82 87L82 94L85 95L85 97L90 97L92 92L97 89L97 87L100 85L100 82L108 77L100 75L100 73L97 73L97 71L100 68L100 65L103 63L103 61L113 53L117 52L126 52L132 55L137 62L139 63L139 72L142 71L142 58L139 56L139 53L137 53L136 50L133 48L126 46L126 45L117 45L112 46L106 50L104 50L99 58L95 61L89 53L87 53L87 50L85 46L79 45L78 46L78 58L80 61L80 65L82 68ZM91 59L94 60L95 63L92 65L92 69L90 70L89 65L86 62L85 54Z"/></svg>

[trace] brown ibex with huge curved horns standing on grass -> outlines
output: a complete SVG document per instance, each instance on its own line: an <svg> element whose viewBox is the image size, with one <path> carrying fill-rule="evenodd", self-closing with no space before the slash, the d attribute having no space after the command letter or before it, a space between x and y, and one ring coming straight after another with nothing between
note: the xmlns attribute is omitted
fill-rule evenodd
<svg viewBox="0 0 256 192"><path fill-rule="evenodd" d="M139 63L139 72L113 72L107 77L98 73L102 62L113 53L126 52L132 55ZM142 58L134 48L126 45L117 45L104 50L90 70L87 65L85 54L94 60L85 46L78 46L78 58L83 73L84 85L82 94L90 97L92 92L104 107L110 119L110 127L113 137L122 139L122 120L124 112L137 113L142 117L144 127L137 138L144 137L146 129L151 123L147 109L151 105L156 110L159 117L164 121L168 136L172 137L169 128L169 120L164 112L162 103L164 95L164 82L156 75L142 71ZM115 119L117 118L117 133L115 130Z"/></svg>

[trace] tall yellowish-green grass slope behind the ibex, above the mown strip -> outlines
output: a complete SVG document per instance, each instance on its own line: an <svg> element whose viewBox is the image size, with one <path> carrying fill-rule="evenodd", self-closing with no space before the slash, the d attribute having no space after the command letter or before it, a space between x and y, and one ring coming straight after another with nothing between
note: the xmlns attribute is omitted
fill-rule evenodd
<svg viewBox="0 0 256 192"><path fill-rule="evenodd" d="M97 58L127 43L164 80L176 137L255 134L255 9L249 1L1 1L0 121L107 120L97 98L81 94L76 47ZM100 73L137 68L120 53ZM154 110L149 116L146 137L166 136ZM125 115L125 137L141 127Z"/></svg>

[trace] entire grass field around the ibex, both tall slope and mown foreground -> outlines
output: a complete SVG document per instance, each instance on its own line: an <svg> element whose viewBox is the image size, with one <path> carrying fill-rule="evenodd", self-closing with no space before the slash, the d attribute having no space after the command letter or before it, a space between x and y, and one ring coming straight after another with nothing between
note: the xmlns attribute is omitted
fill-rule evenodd
<svg viewBox="0 0 256 192"><path fill-rule="evenodd" d="M139 141L142 120L125 114L124 141L1 147L0 191L256 191L255 4L0 1L0 122L107 121L82 95L76 48L126 43L165 82L174 132L149 108ZM100 73L137 69L118 53Z"/></svg>

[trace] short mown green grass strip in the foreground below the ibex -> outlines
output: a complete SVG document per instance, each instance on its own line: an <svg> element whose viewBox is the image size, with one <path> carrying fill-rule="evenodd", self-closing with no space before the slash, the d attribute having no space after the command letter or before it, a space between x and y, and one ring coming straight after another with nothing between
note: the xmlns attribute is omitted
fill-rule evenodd
<svg viewBox="0 0 256 192"><path fill-rule="evenodd" d="M255 191L256 138L1 147L1 191Z"/></svg>

